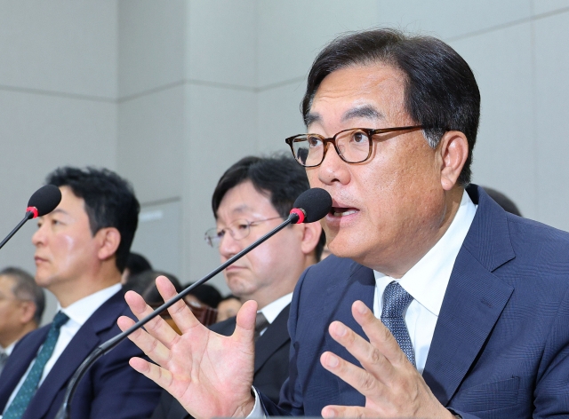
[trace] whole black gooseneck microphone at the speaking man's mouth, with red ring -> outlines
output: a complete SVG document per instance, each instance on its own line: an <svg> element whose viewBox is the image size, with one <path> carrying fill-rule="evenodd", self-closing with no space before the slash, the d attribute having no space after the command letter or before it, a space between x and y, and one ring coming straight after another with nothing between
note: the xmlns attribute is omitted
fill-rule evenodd
<svg viewBox="0 0 569 419"><path fill-rule="evenodd" d="M138 330L139 328L142 328L142 326L147 324L148 321L154 319L156 316L167 310L173 304L180 301L180 299L182 299L184 296L187 296L192 289L195 289L196 287L202 285L204 282L211 280L212 277L223 271L228 267L228 265L232 265L238 259L244 257L252 249L255 249L257 246L259 246L260 243L267 241L270 237L283 230L287 225L313 223L320 218L325 217L325 215L330 212L330 209L332 209L332 197L324 189L315 187L303 192L294 202L294 208L291 209L290 215L284 220L282 224L276 226L276 228L262 236L258 241L253 242L250 246L241 250L233 257L230 257L225 263L221 264L211 273L205 275L201 280L194 282L187 289L184 289L176 296L173 296L167 302L158 307L154 312L151 312L144 319L139 320L137 323L132 325L131 328L128 328L115 337L108 339L108 341L104 344L100 344L81 363L79 368L76 369L75 374L71 377L71 380L69 380L68 388L65 392L65 397L63 398L63 403L61 404L60 410L55 416L55 419L68 419L70 417L71 399L73 399L76 387L87 369L90 368L96 360L99 360L101 356L112 350L117 344L120 344L127 336L131 335L132 332Z"/></svg>

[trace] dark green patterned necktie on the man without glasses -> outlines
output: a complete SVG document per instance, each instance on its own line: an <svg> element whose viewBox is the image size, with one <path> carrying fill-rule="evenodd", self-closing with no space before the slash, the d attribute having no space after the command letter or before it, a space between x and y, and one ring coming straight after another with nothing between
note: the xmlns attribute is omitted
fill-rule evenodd
<svg viewBox="0 0 569 419"><path fill-rule="evenodd" d="M29 370L29 374L21 384L20 390L13 399L12 404L6 410L4 419L20 419L28 408L29 401L34 397L37 390L37 384L42 378L44 367L47 361L52 358L53 349L60 336L60 328L69 320L68 316L63 312L58 312L52 322L52 327L47 333L44 345L36 357L34 365Z"/></svg>

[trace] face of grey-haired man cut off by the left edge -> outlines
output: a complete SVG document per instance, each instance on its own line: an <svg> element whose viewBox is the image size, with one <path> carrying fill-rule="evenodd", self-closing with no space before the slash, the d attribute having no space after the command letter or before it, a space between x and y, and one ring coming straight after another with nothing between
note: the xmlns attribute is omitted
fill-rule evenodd
<svg viewBox="0 0 569 419"><path fill-rule="evenodd" d="M12 336L18 336L25 321L23 304L28 302L18 299L12 289L15 281L6 275L0 275L0 345L12 344Z"/></svg>

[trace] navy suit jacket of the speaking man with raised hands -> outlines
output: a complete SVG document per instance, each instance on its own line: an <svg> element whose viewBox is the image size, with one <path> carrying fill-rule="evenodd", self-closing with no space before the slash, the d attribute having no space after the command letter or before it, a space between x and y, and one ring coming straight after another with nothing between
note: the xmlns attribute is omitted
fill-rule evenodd
<svg viewBox="0 0 569 419"><path fill-rule="evenodd" d="M476 216L453 266L423 378L437 399L465 418L569 417L569 233L504 212L468 189ZM270 415L320 415L327 405L365 398L320 364L341 320L359 335L350 307L373 309L373 271L328 257L303 273L293 296L289 379Z"/></svg>

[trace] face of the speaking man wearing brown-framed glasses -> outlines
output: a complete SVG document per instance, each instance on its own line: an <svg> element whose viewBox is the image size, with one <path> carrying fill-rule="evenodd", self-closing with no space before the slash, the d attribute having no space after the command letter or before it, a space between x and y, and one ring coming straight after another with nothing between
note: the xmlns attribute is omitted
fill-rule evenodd
<svg viewBox="0 0 569 419"><path fill-rule="evenodd" d="M405 76L383 64L348 67L327 75L310 108L310 133L332 137L349 128L416 125L404 108ZM322 221L329 248L341 257L389 271L422 251L445 216L437 153L421 130L375 136L366 162L341 161L332 146L307 170L310 186L332 194ZM397 272L392 272L397 273Z"/></svg>

